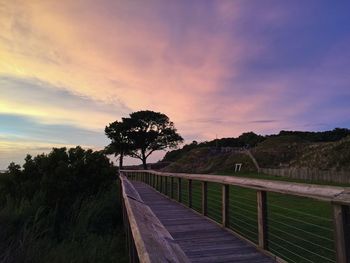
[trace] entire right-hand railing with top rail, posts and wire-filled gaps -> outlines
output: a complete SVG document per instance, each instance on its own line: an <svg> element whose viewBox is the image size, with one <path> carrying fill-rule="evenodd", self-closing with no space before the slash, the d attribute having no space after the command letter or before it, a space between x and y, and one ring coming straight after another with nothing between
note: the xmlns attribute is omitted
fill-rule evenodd
<svg viewBox="0 0 350 263"><path fill-rule="evenodd" d="M121 173L208 216L279 261L350 263L350 188L149 170Z"/></svg>

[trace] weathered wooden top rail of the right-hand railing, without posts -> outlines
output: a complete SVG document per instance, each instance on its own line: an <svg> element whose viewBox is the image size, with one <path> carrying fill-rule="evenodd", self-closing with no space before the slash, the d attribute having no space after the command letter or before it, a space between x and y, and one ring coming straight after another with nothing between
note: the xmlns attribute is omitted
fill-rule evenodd
<svg viewBox="0 0 350 263"><path fill-rule="evenodd" d="M265 179L251 179L224 175L208 174L186 174L186 173L163 173L153 170L121 170L124 173L151 173L155 175L192 179L205 182L220 183L226 185L235 185L245 188L256 189L302 197L309 197L317 200L328 201L340 205L350 205L350 188L328 185L315 185L304 183L292 183L273 181Z"/></svg>

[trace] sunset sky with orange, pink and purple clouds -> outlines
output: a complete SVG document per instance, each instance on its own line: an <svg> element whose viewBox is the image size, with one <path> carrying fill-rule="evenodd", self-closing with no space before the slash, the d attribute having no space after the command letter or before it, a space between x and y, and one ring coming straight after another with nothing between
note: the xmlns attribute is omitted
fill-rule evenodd
<svg viewBox="0 0 350 263"><path fill-rule="evenodd" d="M350 128L349 14L347 0L0 0L0 169L102 149L138 110L186 142Z"/></svg>

